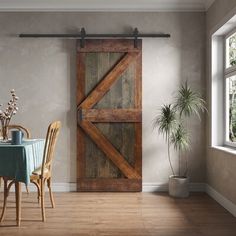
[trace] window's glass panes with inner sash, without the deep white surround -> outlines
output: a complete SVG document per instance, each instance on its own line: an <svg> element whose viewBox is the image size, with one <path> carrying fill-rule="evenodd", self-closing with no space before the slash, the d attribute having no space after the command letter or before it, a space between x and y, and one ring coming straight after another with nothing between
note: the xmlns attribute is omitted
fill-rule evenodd
<svg viewBox="0 0 236 236"><path fill-rule="evenodd" d="M236 33L225 38L225 144L236 147Z"/></svg>

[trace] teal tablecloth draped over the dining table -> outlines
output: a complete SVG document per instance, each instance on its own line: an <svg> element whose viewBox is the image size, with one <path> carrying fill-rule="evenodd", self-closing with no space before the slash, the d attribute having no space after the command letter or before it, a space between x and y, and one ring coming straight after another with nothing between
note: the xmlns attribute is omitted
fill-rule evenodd
<svg viewBox="0 0 236 236"><path fill-rule="evenodd" d="M21 145L0 141L0 176L29 184L33 170L41 166L44 139L25 140Z"/></svg>

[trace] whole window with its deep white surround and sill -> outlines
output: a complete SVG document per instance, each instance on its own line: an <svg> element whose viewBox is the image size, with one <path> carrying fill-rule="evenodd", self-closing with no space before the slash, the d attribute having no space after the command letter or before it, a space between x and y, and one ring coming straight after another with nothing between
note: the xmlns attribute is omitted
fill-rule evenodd
<svg viewBox="0 0 236 236"><path fill-rule="evenodd" d="M211 147L236 154L236 15L210 34Z"/></svg>

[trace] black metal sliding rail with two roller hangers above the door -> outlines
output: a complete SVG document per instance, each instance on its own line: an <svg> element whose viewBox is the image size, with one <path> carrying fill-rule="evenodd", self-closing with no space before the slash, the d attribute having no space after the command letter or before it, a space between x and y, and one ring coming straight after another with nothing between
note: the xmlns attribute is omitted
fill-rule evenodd
<svg viewBox="0 0 236 236"><path fill-rule="evenodd" d="M81 28L80 33L76 34L19 34L20 38L69 38L80 39L80 46L84 48L85 39L89 38L128 38L134 39L134 47L138 46L138 38L170 38L170 34L163 33L148 33L141 34L138 28L134 28L133 33L130 34L86 34L85 28Z"/></svg>

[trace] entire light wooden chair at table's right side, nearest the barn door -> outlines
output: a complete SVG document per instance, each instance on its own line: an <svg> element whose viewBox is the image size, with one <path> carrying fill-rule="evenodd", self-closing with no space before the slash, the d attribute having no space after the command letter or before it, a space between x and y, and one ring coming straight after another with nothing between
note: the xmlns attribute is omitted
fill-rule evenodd
<svg viewBox="0 0 236 236"><path fill-rule="evenodd" d="M32 175L30 176L31 183L35 184L38 190L38 200L41 202L42 221L46 220L44 203L45 182L47 182L47 186L49 189L52 208L55 207L53 193L51 189L52 161L60 128L60 121L53 122L49 125L45 141L42 165L36 170L34 170Z"/></svg>

